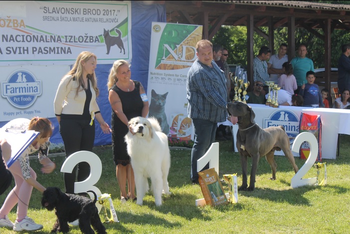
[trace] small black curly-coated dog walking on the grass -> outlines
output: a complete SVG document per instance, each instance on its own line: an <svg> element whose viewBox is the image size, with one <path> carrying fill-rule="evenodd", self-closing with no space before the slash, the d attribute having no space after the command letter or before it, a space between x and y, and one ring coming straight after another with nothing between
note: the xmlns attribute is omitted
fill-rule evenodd
<svg viewBox="0 0 350 234"><path fill-rule="evenodd" d="M86 197L65 194L57 187L48 187L42 196L41 205L49 211L55 209L57 220L53 225L51 232L68 233L68 222L79 220L79 228L83 234L94 234L90 225L98 234L106 234L106 228L101 223L97 207L96 193L95 199L91 200Z"/></svg>

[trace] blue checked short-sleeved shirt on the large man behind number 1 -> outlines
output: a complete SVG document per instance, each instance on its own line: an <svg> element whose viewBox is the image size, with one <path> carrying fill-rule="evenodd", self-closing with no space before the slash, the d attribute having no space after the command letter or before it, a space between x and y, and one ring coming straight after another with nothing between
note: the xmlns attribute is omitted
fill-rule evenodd
<svg viewBox="0 0 350 234"><path fill-rule="evenodd" d="M224 122L227 118L226 78L214 60L211 65L209 67L196 59L188 71L188 117L214 123Z"/></svg>

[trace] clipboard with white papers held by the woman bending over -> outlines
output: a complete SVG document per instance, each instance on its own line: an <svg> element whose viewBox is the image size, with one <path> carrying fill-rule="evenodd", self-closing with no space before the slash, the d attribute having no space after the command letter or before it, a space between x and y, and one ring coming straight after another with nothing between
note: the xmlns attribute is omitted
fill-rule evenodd
<svg viewBox="0 0 350 234"><path fill-rule="evenodd" d="M29 144L34 141L38 134L39 132L34 130L1 128L0 136L5 138L7 143L11 146L11 157L6 162L8 168L28 148Z"/></svg>

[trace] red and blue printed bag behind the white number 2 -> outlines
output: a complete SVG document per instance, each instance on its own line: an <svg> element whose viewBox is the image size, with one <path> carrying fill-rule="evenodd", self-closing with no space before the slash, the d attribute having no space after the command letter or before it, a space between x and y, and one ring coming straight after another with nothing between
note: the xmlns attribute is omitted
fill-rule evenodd
<svg viewBox="0 0 350 234"><path fill-rule="evenodd" d="M319 153L317 155L317 161L322 160L322 154L321 154L321 129L322 129L322 122L321 122L321 115L309 115L305 113L300 114L300 123L299 123L299 133L302 132L310 132L314 134L314 136L317 139L317 143L319 144ZM307 141L304 141L303 144L300 147L299 155L301 159L307 159L310 154L310 146Z"/></svg>

